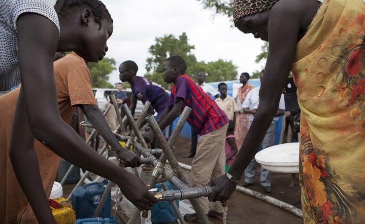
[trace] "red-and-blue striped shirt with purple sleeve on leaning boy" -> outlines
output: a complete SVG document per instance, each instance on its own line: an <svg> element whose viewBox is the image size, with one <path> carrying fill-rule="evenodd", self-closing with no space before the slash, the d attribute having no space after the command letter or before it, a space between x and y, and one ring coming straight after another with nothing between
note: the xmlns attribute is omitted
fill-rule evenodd
<svg viewBox="0 0 365 224"><path fill-rule="evenodd" d="M184 106L192 108L187 121L199 135L208 134L228 123L224 111L186 74L177 79L172 89L170 108L173 107L177 97L184 99Z"/></svg>

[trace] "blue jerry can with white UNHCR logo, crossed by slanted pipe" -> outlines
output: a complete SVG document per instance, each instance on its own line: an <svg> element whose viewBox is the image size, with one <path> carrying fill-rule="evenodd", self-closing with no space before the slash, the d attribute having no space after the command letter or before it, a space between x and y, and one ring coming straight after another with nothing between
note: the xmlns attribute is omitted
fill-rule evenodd
<svg viewBox="0 0 365 224"><path fill-rule="evenodd" d="M91 182L84 186L78 186L72 193L71 203L75 210L76 218L89 218L94 214L97 205L102 198L105 191L108 180L104 180L101 183ZM108 198L105 201L102 211L98 216L110 217L111 211L111 195L109 192Z"/></svg>

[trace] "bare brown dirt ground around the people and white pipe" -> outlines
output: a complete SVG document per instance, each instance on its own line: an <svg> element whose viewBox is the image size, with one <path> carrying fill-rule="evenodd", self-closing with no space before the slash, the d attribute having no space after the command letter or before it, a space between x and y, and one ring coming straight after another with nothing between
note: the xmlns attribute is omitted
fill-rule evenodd
<svg viewBox="0 0 365 224"><path fill-rule="evenodd" d="M175 144L175 156L179 162L191 165L192 158L183 158L190 151L190 139L180 137ZM260 166L257 165L257 172L254 179L254 185L249 186L249 189L267 194L263 191L259 184ZM191 181L189 171L185 171L187 178ZM301 208L300 204L300 187L296 176L296 186L294 189L288 188L291 182L291 174L283 174L272 172L272 193L267 194L271 197L284 201L297 208ZM240 184L243 183L243 177ZM64 196L68 196L75 184L65 184L63 186ZM253 198L240 192L235 192L228 201L228 223L302 223L303 220L296 215L280 209L267 202ZM222 223L221 220L209 218L214 223Z"/></svg>

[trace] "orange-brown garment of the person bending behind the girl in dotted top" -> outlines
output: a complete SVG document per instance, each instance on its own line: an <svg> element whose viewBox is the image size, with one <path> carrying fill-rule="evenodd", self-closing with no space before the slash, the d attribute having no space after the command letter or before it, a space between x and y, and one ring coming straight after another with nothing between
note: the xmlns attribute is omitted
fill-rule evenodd
<svg viewBox="0 0 365 224"><path fill-rule="evenodd" d="M60 115L66 123L71 124L75 111L73 105L97 105L92 92L90 71L85 61L77 54L68 54L55 61L54 77ZM10 134L20 88L0 97L0 223L38 223L16 180L9 159ZM43 186L49 196L60 158L37 140L35 150Z"/></svg>

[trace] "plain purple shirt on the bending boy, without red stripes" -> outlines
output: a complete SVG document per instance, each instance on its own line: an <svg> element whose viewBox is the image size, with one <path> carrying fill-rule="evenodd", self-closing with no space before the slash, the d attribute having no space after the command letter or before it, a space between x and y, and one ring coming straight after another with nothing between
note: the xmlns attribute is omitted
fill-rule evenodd
<svg viewBox="0 0 365 224"><path fill-rule="evenodd" d="M151 105L157 113L163 111L168 102L169 94L158 84L151 82L151 80L136 76L134 85L130 87L132 93L135 94L143 104L146 101L151 102Z"/></svg>

